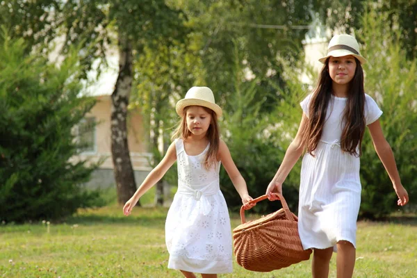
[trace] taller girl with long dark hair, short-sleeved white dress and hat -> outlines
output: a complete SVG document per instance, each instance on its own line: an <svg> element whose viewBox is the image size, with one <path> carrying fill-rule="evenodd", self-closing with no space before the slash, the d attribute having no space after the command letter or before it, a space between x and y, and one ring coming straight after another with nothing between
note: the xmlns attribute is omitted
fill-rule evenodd
<svg viewBox="0 0 417 278"><path fill-rule="evenodd" d="M301 102L297 135L270 182L266 194L281 193L282 183L298 158L302 159L298 229L304 250L313 249L313 277L328 277L332 251L337 251L337 277L352 277L356 251L357 216L361 202L359 156L366 126L375 150L398 195L409 201L401 184L393 152L378 118L382 111L363 91L359 44L350 35L329 42L318 86Z"/></svg>

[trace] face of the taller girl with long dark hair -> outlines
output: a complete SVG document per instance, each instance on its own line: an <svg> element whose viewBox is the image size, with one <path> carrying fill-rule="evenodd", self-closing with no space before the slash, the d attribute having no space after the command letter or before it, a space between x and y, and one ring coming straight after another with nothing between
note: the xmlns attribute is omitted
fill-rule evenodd
<svg viewBox="0 0 417 278"><path fill-rule="evenodd" d="M330 78L338 85L345 85L352 81L356 70L356 60L354 56L342 56L329 58Z"/></svg>

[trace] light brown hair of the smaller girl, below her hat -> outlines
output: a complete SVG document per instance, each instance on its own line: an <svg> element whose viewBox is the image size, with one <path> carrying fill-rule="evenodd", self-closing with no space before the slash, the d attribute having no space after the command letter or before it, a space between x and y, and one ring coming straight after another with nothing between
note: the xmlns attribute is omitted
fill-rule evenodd
<svg viewBox="0 0 417 278"><path fill-rule="evenodd" d="M188 130L187 127L187 110L190 106L187 106L184 108L183 115L181 117L181 120L178 123L177 128L174 131L174 134L172 135L172 140L175 138L182 138L183 140L186 140L188 136L191 135L191 131ZM208 126L208 130L206 133L206 137L208 138L208 142L210 142L210 147L208 147L208 151L206 152L206 156L204 157L203 166L206 168L206 170L210 169L211 165L215 165L218 161L218 151L220 146L220 127L218 124L218 118L217 114L204 106L201 106L204 108L204 110L211 115L211 122L210 126Z"/></svg>

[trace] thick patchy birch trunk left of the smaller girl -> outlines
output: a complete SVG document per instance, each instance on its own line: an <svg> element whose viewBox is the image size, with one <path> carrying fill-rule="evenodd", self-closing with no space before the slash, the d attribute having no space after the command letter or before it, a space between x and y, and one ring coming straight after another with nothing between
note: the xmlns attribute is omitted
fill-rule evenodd
<svg viewBox="0 0 417 278"><path fill-rule="evenodd" d="M117 188L117 202L124 204L136 192L135 175L127 143L127 106L132 87L131 43L119 34L119 75L111 95L111 154ZM138 202L138 205L139 202Z"/></svg>

